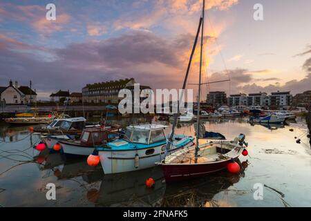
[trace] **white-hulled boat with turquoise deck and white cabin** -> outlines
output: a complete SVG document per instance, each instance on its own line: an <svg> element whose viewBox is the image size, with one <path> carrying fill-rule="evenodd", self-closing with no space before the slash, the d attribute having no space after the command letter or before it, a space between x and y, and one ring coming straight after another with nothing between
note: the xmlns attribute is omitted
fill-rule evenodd
<svg viewBox="0 0 311 221"><path fill-rule="evenodd" d="M128 126L123 139L96 148L104 173L124 173L154 166L164 157L167 144L164 128L167 126L160 124ZM169 153L192 145L194 137L174 135Z"/></svg>

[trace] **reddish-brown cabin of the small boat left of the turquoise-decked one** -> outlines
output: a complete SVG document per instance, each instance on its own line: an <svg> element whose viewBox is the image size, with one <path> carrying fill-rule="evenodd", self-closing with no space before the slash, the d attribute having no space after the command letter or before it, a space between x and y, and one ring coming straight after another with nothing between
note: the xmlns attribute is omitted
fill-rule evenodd
<svg viewBox="0 0 311 221"><path fill-rule="evenodd" d="M108 132L101 128L86 128L81 135L80 143L86 146L102 145L109 142Z"/></svg>

